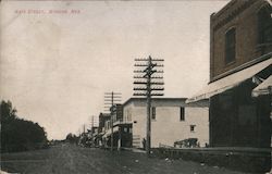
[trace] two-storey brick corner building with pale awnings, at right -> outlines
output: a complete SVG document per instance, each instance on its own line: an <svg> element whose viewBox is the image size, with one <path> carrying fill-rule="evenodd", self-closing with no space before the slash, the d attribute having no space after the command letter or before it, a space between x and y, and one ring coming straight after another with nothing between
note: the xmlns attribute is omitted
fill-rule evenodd
<svg viewBox="0 0 272 174"><path fill-rule="evenodd" d="M271 86L271 13L268 1L232 0L210 17L210 82L187 103L210 100L212 147L271 147L271 91L252 97Z"/></svg>

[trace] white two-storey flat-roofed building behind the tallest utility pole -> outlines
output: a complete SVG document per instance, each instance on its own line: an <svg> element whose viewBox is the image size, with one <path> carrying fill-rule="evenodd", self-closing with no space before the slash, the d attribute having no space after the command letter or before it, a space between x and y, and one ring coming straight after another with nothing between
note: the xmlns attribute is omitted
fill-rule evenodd
<svg viewBox="0 0 272 174"><path fill-rule="evenodd" d="M151 102L151 147L174 146L175 141L197 138L209 142L208 101L185 104L185 98L154 98ZM146 99L131 98L124 104L124 123L132 124L133 147L144 148L146 139Z"/></svg>

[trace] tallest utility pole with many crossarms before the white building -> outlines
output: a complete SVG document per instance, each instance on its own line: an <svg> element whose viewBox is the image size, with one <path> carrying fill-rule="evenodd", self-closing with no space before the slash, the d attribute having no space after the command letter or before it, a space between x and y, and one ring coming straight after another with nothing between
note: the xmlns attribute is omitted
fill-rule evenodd
<svg viewBox="0 0 272 174"><path fill-rule="evenodd" d="M136 80L134 84L134 90L136 91L134 96L145 96L147 99L147 126L146 126L146 151L147 156L150 154L151 148L151 98L152 96L163 96L163 77L154 76L153 74L163 73L163 61L162 59L152 59L150 55L148 59L135 59L136 67L144 67L141 70L136 70L134 73L136 74L134 78ZM157 67L157 69L156 69ZM144 86L143 86L144 85ZM152 92L152 91L161 91L161 92ZM138 92L139 91L139 92Z"/></svg>

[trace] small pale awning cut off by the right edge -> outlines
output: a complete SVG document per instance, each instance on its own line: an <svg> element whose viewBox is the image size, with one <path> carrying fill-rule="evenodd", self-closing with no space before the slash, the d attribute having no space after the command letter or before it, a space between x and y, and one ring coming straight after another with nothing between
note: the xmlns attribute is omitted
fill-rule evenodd
<svg viewBox="0 0 272 174"><path fill-rule="evenodd" d="M252 97L258 97L261 95L272 95L272 75L270 75L252 90Z"/></svg>

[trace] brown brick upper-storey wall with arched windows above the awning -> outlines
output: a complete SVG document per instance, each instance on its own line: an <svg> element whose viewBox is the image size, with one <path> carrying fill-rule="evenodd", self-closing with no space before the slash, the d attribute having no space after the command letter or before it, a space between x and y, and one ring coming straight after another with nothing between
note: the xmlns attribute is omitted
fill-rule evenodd
<svg viewBox="0 0 272 174"><path fill-rule="evenodd" d="M210 82L268 59L272 51L271 5L232 0L210 17Z"/></svg>

